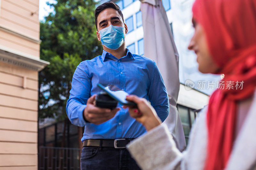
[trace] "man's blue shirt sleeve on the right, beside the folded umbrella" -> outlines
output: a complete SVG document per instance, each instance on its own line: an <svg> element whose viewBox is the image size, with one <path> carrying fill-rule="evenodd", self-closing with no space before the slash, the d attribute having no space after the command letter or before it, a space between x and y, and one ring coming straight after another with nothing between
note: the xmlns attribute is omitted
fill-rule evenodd
<svg viewBox="0 0 256 170"><path fill-rule="evenodd" d="M148 87L148 100L156 110L158 117L164 122L169 115L169 98L164 80L155 62L152 78Z"/></svg>

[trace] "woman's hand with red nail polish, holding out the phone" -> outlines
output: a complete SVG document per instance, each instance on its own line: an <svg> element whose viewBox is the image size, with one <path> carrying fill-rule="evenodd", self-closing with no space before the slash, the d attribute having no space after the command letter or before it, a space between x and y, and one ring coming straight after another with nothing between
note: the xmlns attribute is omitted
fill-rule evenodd
<svg viewBox="0 0 256 170"><path fill-rule="evenodd" d="M136 95L129 95L126 97L126 100L133 101L137 104L138 108L132 108L125 105L123 108L129 107L130 116L145 126L147 131L162 123L160 118L157 116L155 109L149 104L148 100L137 97Z"/></svg>

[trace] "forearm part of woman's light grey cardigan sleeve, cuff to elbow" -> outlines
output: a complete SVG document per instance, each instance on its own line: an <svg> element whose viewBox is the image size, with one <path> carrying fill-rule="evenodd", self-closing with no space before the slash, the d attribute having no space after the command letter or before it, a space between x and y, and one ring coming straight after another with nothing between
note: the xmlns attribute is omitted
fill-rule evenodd
<svg viewBox="0 0 256 170"><path fill-rule="evenodd" d="M165 124L148 131L133 140L127 149L143 170L180 169L183 158Z"/></svg>

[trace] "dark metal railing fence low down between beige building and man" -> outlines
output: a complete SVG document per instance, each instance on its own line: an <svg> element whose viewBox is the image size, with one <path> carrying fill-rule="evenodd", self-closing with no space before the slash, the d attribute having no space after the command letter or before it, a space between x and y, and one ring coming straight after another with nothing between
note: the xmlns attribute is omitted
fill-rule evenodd
<svg viewBox="0 0 256 170"><path fill-rule="evenodd" d="M80 149L40 146L38 169L80 169Z"/></svg>

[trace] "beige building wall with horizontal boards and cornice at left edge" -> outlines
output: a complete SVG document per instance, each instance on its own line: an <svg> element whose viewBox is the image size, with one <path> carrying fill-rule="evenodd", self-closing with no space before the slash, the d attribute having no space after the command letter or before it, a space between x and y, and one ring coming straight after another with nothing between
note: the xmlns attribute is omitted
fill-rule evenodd
<svg viewBox="0 0 256 170"><path fill-rule="evenodd" d="M0 0L0 170L37 169L39 0Z"/></svg>

